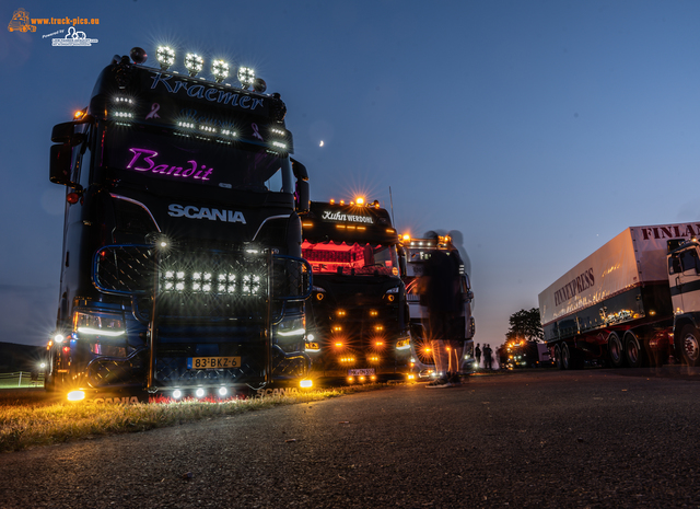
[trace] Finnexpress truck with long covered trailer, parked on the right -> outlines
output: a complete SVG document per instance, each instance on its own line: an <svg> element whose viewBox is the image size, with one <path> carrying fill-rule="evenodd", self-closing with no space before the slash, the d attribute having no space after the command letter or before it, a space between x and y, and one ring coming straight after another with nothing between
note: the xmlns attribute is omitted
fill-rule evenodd
<svg viewBox="0 0 700 509"><path fill-rule="evenodd" d="M700 361L700 224L632 227L539 294L562 369Z"/></svg>

